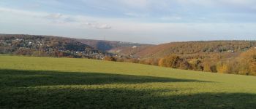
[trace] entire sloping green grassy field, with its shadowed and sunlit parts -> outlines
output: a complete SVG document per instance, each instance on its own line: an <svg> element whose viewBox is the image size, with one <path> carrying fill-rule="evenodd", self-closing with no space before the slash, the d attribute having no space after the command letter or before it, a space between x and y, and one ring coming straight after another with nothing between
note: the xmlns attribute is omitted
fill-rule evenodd
<svg viewBox="0 0 256 109"><path fill-rule="evenodd" d="M256 108L256 77L1 55L0 108Z"/></svg>

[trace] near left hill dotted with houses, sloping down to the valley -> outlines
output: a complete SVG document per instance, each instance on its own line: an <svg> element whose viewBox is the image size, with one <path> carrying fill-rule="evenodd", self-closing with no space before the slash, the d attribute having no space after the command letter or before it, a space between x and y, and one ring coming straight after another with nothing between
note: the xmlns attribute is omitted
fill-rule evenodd
<svg viewBox="0 0 256 109"><path fill-rule="evenodd" d="M39 52L40 50L40 52ZM56 36L1 34L0 53L46 57L102 58L106 54L74 39Z"/></svg>

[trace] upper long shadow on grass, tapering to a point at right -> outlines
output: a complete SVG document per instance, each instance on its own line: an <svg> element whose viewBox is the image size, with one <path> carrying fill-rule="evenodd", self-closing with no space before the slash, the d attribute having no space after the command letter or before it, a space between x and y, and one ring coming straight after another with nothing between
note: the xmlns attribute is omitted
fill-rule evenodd
<svg viewBox="0 0 256 109"><path fill-rule="evenodd" d="M196 82L197 80L130 76L109 73L73 73L44 70L0 70L0 86L142 84L150 82ZM206 82L206 81L197 81Z"/></svg>

